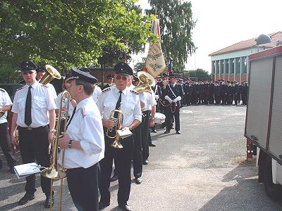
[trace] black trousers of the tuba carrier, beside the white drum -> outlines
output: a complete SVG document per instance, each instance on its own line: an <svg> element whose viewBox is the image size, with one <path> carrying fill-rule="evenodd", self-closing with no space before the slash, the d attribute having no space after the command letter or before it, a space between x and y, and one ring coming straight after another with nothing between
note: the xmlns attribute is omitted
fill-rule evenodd
<svg viewBox="0 0 282 211"><path fill-rule="evenodd" d="M149 135L149 116L151 111L146 110L142 112L142 122L141 122L141 141L142 141L142 158L147 160L149 158L149 145L148 145L148 135Z"/></svg>

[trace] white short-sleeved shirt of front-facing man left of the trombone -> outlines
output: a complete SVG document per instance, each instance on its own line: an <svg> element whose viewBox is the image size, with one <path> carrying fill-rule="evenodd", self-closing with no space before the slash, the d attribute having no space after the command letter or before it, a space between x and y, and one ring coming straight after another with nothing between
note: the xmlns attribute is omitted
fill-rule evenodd
<svg viewBox="0 0 282 211"><path fill-rule="evenodd" d="M20 127L27 127L25 124L25 101L27 98L28 85L16 91L13 98L12 112L18 114L17 124ZM56 109L54 96L47 86L35 82L31 91L31 119L30 127L42 127L49 124L48 110Z"/></svg>

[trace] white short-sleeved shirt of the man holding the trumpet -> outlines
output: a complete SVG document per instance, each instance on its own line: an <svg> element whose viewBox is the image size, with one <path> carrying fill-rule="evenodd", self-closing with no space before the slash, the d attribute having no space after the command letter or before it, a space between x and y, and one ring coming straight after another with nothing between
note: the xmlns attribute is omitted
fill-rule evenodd
<svg viewBox="0 0 282 211"><path fill-rule="evenodd" d="M116 85L104 89L97 102L100 113L103 115L103 120L109 120L111 111L116 109L116 102L119 96L119 89L116 88ZM129 127L133 120L142 121L138 94L130 91L128 87L121 94L121 111L123 113L123 127Z"/></svg>

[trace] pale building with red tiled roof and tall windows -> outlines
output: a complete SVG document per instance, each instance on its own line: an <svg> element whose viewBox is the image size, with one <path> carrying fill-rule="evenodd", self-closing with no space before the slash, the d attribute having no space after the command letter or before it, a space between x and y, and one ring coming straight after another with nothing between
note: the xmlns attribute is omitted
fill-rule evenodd
<svg viewBox="0 0 282 211"><path fill-rule="evenodd" d="M257 51L270 49L282 44L282 32L268 34L271 42L257 45L257 38L240 41L214 53L212 60L212 79L247 82L249 72L249 56Z"/></svg>

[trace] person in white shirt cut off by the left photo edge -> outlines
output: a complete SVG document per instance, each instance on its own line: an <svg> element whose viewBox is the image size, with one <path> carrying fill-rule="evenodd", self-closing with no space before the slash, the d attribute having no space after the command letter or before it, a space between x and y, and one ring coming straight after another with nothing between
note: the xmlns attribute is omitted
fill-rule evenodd
<svg viewBox="0 0 282 211"><path fill-rule="evenodd" d="M13 166L16 164L16 157L13 155L11 148L11 139L8 134L8 121L7 121L7 111L11 110L12 106L11 98L5 89L0 88L0 146L7 160L8 167L10 168L11 174L15 174ZM0 170L2 168L2 160L0 159Z"/></svg>

